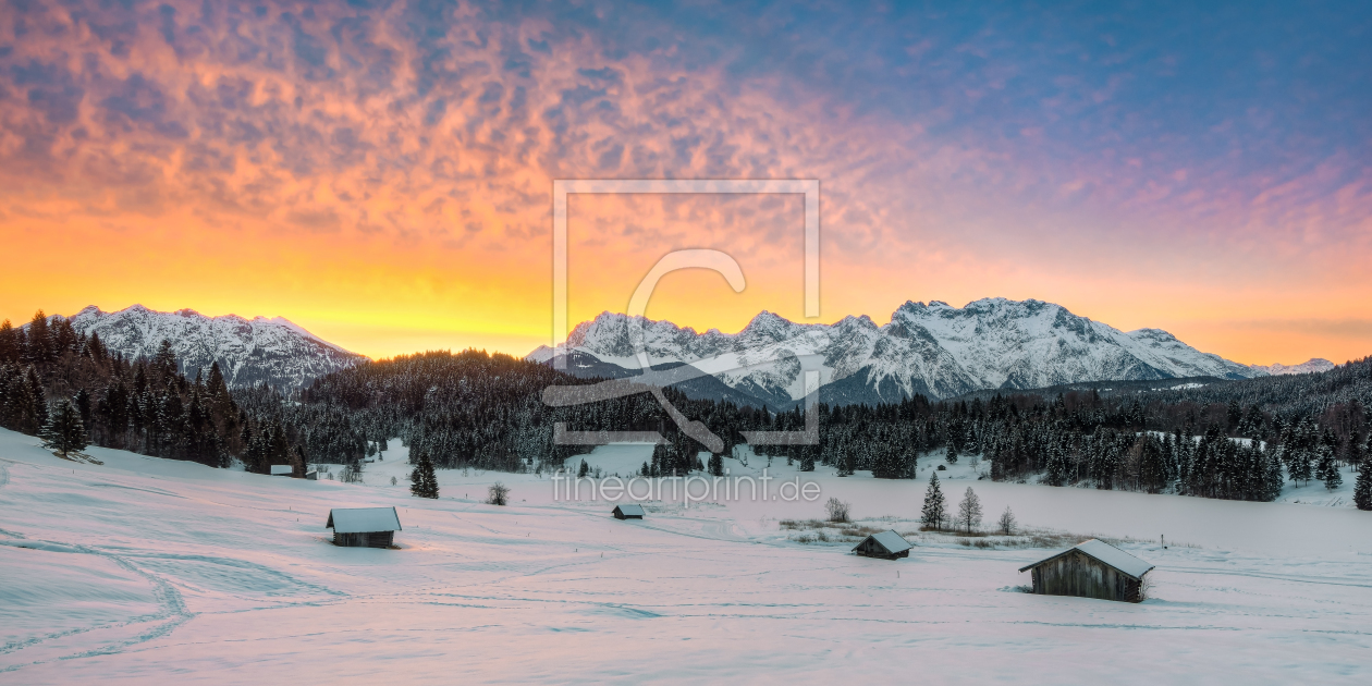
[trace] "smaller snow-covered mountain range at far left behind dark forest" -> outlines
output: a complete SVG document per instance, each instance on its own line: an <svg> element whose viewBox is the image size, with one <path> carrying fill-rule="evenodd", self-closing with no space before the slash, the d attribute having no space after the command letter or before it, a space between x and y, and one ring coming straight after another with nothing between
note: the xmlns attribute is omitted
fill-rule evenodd
<svg viewBox="0 0 1372 686"><path fill-rule="evenodd" d="M210 365L220 362L229 386L266 381L300 387L366 359L281 317L206 317L195 310L155 311L141 305L107 313L92 305L69 318L78 332L100 333L110 351L125 357L152 357L163 339L170 340L182 373L209 373Z"/></svg>

